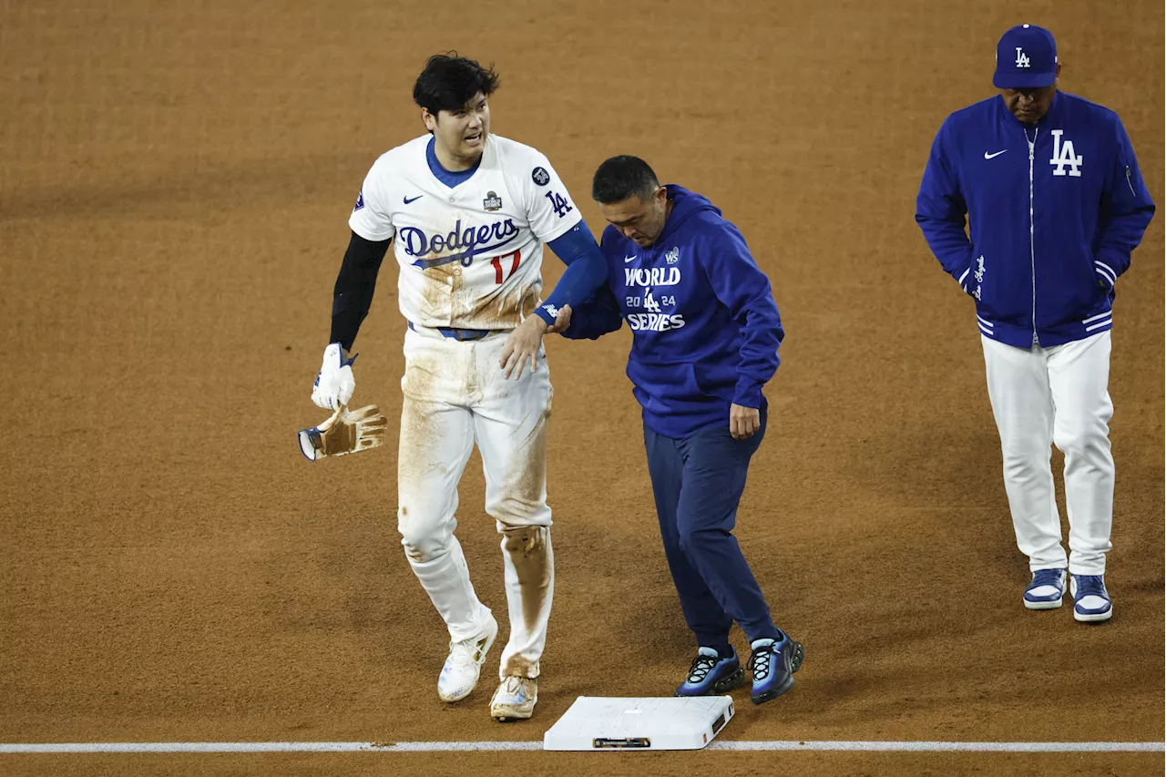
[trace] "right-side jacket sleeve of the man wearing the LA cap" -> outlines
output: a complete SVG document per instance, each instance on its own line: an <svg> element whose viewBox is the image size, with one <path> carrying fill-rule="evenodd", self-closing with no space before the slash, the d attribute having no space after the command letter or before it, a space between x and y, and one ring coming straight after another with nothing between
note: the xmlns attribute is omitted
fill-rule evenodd
<svg viewBox="0 0 1166 777"><path fill-rule="evenodd" d="M1154 217L1154 201L1133 155L1133 145L1114 117L1116 152L1101 198L1101 222L1094 270L1105 288L1112 288L1118 276L1130 267L1130 254L1142 243L1142 236Z"/></svg>

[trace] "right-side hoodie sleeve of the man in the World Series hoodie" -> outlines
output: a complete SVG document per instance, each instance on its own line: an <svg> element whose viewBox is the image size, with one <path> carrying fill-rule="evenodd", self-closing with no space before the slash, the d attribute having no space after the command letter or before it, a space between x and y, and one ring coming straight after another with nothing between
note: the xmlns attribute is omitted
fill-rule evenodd
<svg viewBox="0 0 1166 777"><path fill-rule="evenodd" d="M786 336L770 279L753 260L740 230L729 223L698 256L714 293L742 324L745 337L732 404L758 408L763 386L781 363L778 348Z"/></svg>

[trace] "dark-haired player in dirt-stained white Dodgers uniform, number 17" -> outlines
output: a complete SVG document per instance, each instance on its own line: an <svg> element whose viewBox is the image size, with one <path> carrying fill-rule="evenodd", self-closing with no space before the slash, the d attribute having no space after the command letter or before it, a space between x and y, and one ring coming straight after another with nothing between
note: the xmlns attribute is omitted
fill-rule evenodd
<svg viewBox="0 0 1166 777"><path fill-rule="evenodd" d="M506 721L534 710L554 592L542 335L560 307L604 282L606 267L547 158L490 134L497 85L492 69L454 52L431 57L417 78L414 100L429 134L384 154L364 181L312 400L335 408L351 398L347 351L392 243L408 322L398 530L450 634L437 693L458 701L477 685L498 635L454 533L458 481L477 442L486 512L503 536L511 629L491 715ZM542 301L547 243L568 268Z"/></svg>

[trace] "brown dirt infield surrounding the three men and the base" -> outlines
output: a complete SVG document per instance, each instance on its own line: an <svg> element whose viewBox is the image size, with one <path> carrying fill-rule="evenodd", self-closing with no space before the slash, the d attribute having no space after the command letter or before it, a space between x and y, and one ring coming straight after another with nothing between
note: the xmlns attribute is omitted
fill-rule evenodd
<svg viewBox="0 0 1166 777"><path fill-rule="evenodd" d="M1166 200L1157 0L0 2L0 742L539 740L578 695L680 679L693 646L626 329L548 338L559 575L528 723L490 720L491 677L437 700L448 637L398 544L395 421L360 456L309 464L295 446L324 418L309 392L352 201L423 131L413 79L449 48L496 64L493 131L546 153L592 230L595 167L639 154L719 205L773 280L788 340L739 537L807 660L787 696L738 693L724 738L1166 740L1161 224L1118 284L1116 615L1087 628L1020 606L972 309L913 219L934 132L991 93L995 41L1024 21L1056 34L1066 90L1122 114ZM548 285L560 271L548 254ZM403 331L389 268L356 350L357 399L393 419ZM475 586L504 612L477 455L461 496ZM1152 775L1166 760L0 755L5 775L468 770Z"/></svg>

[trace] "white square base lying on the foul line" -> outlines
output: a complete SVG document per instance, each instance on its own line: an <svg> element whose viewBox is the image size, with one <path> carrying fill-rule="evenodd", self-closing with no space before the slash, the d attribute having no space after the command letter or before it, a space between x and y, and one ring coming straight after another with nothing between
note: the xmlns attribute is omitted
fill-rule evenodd
<svg viewBox="0 0 1166 777"><path fill-rule="evenodd" d="M732 696L580 696L542 737L543 750L700 750L733 716Z"/></svg>

